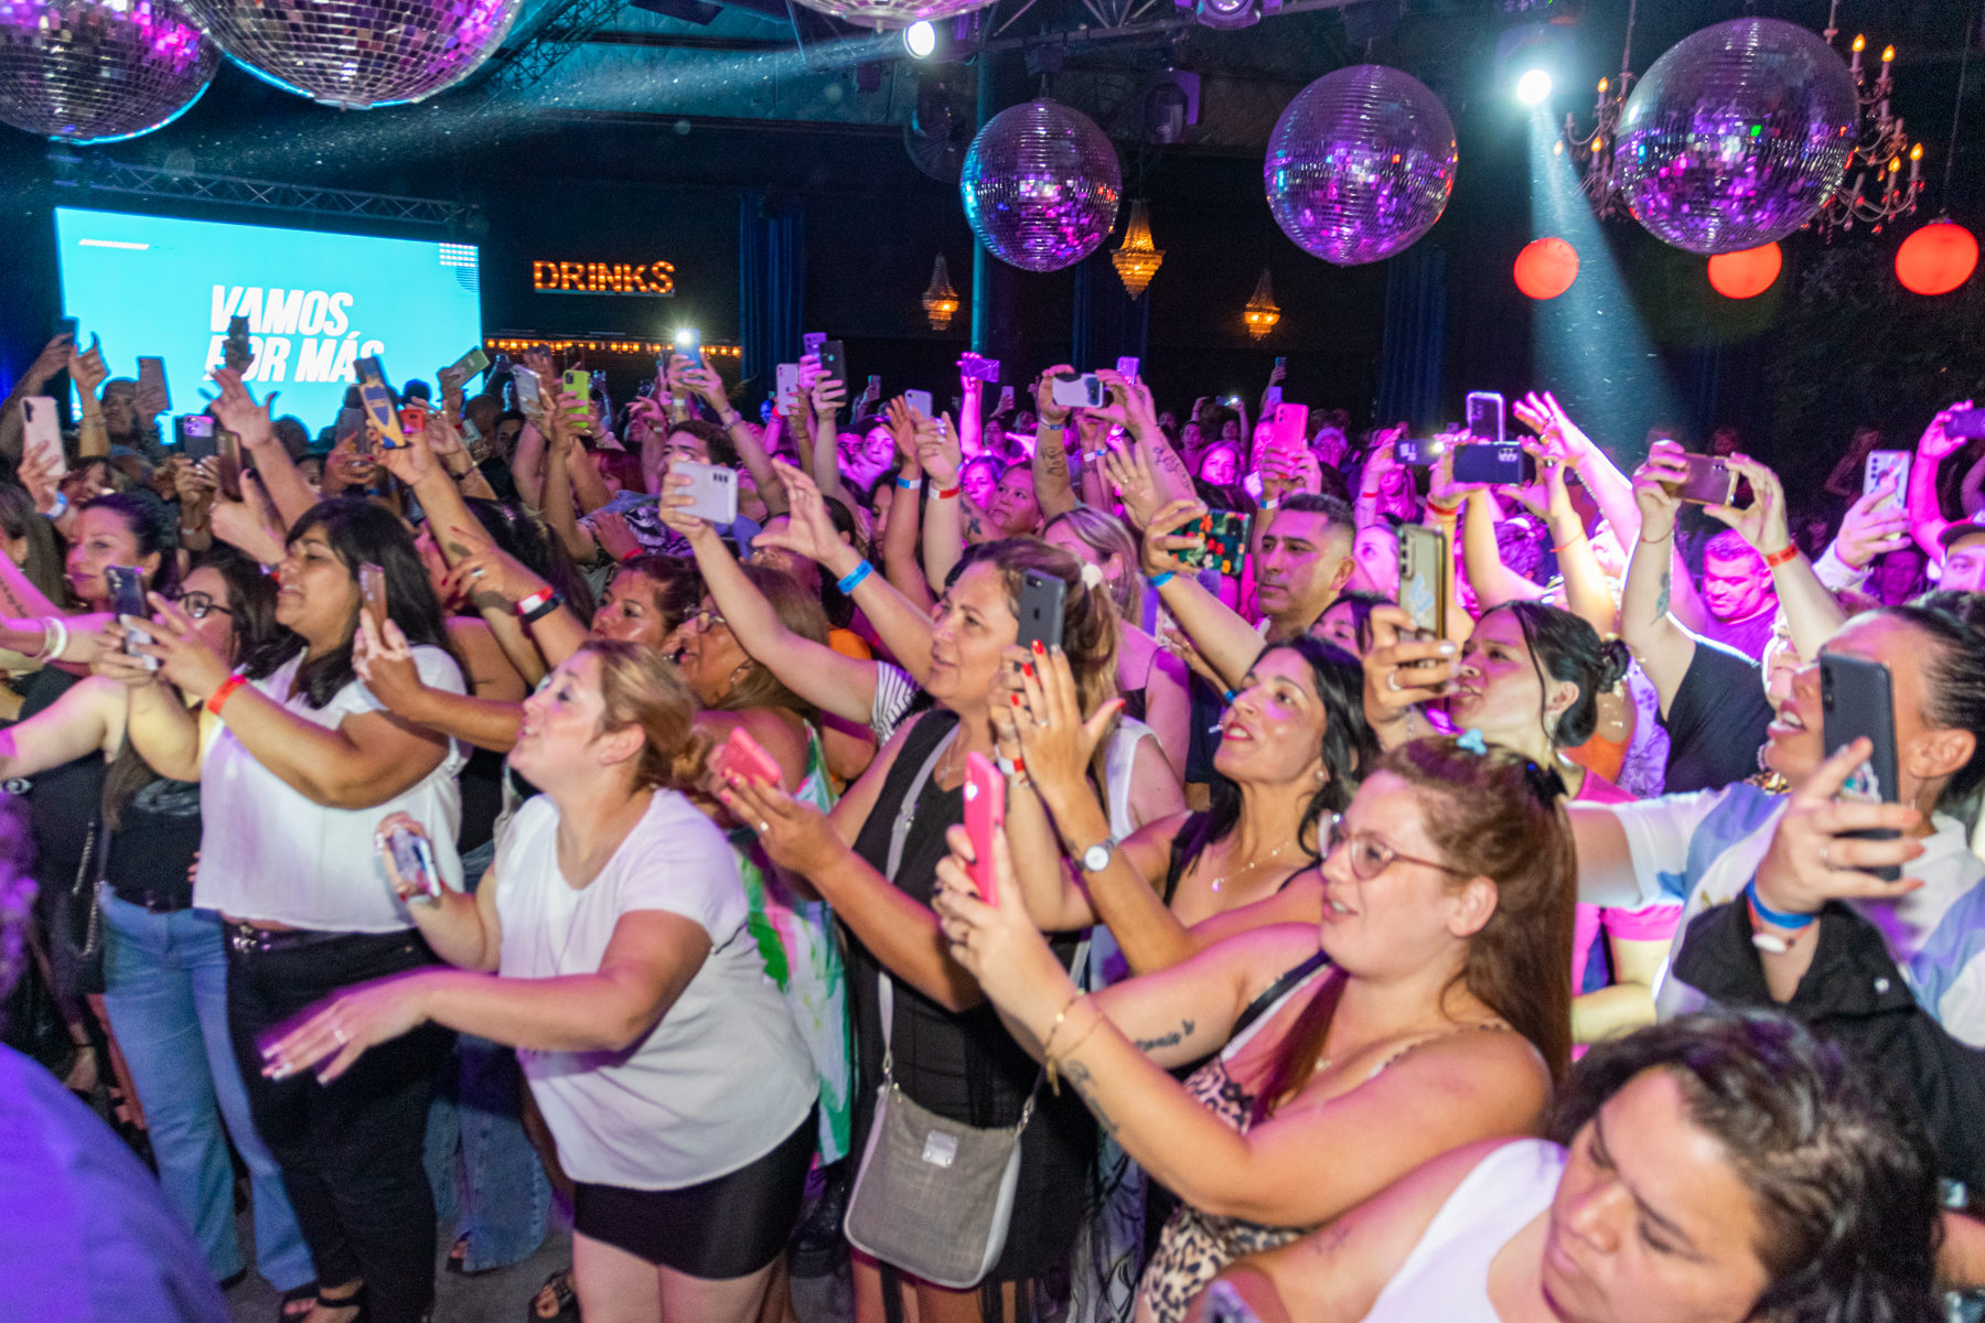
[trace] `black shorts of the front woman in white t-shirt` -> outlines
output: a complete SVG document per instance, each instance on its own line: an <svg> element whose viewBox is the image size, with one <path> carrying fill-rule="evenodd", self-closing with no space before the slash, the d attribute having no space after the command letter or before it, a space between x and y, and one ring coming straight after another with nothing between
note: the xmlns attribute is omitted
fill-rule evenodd
<svg viewBox="0 0 1985 1323"><path fill-rule="evenodd" d="M572 1230L687 1277L748 1277L786 1248L814 1164L818 1107L778 1148L728 1176L681 1190L572 1192Z"/></svg>

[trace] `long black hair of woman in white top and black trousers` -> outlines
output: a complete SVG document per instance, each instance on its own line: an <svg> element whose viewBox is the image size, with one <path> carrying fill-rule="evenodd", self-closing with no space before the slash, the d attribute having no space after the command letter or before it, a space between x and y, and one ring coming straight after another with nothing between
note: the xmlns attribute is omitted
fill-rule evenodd
<svg viewBox="0 0 1985 1323"><path fill-rule="evenodd" d="M290 526L286 543L296 545L312 530L324 532L324 540L331 543L331 551L353 583L359 579L359 565L367 561L385 569L385 613L407 635L407 643L411 647L437 647L461 666L463 659L449 643L449 627L441 619L435 585L429 583L427 567L413 545L413 534L399 522L399 516L369 500L333 496L306 510ZM357 619L359 609L353 605L351 619L345 623L345 641L324 657L298 666L296 692L302 692L310 706L322 708L337 696L337 690L357 678L351 668L351 633L357 629ZM272 645L244 659L244 674L250 680L270 676L304 647L304 637L286 629ZM468 668L463 666L463 676L466 674Z"/></svg>

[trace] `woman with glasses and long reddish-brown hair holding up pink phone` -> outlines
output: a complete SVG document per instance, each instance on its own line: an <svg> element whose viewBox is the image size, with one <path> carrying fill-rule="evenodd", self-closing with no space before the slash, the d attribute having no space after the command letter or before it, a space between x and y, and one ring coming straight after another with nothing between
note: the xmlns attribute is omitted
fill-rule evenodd
<svg viewBox="0 0 1985 1323"><path fill-rule="evenodd" d="M1231 1260L1439 1152L1536 1133L1564 1073L1572 837L1548 780L1507 750L1393 750L1332 827L1318 926L1255 928L1094 994L1028 918L1006 835L996 908L969 881L963 829L951 849L937 910L953 960L1183 1200L1139 1319L1177 1323ZM1209 1053L1185 1085L1167 1073Z"/></svg>

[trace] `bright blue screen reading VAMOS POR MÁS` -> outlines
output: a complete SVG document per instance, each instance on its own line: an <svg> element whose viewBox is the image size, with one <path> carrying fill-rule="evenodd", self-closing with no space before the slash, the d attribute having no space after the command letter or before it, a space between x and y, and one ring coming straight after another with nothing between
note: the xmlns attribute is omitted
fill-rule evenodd
<svg viewBox="0 0 1985 1323"><path fill-rule="evenodd" d="M113 377L165 359L175 413L204 409L228 317L248 317L248 381L282 391L316 434L337 419L351 361L381 355L395 385L482 343L476 246L56 208L64 313L103 337ZM171 436L171 428L165 432Z"/></svg>

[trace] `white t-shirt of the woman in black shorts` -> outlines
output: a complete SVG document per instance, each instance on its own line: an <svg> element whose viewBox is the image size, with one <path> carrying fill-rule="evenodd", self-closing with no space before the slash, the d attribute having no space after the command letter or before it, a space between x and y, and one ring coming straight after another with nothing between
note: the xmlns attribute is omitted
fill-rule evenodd
<svg viewBox="0 0 1985 1323"><path fill-rule="evenodd" d="M504 978L597 974L621 914L667 910L711 954L625 1051L518 1049L574 1180L679 1190L750 1166L806 1121L814 1059L744 920L736 855L683 795L659 789L588 887L558 869L558 805L536 795L496 847Z"/></svg>

